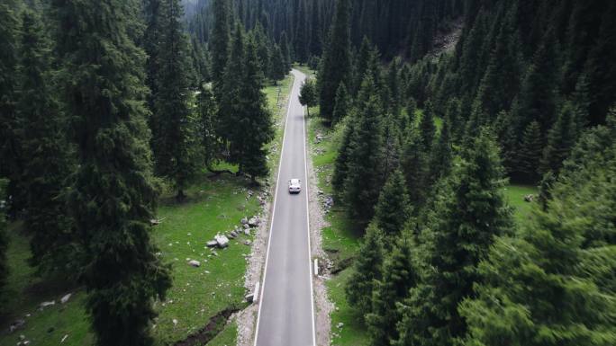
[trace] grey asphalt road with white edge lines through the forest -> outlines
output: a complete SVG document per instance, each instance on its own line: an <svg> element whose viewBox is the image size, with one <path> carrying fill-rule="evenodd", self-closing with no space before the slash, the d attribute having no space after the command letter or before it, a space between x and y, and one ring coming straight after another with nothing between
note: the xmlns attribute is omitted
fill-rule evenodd
<svg viewBox="0 0 616 346"><path fill-rule="evenodd" d="M293 74L258 306L256 346L315 345L305 124L298 100L306 76L297 70ZM299 194L289 194L287 183L291 178L302 181Z"/></svg>

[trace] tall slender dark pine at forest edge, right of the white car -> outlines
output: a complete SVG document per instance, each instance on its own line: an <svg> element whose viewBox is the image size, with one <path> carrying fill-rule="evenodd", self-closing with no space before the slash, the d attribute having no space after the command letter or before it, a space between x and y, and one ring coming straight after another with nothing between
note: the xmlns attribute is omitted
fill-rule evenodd
<svg viewBox="0 0 616 346"><path fill-rule="evenodd" d="M367 75L358 95L358 109L350 138L347 177L344 181L344 201L349 215L359 223L367 223L374 215L382 181L382 102L372 93L374 82Z"/></svg>

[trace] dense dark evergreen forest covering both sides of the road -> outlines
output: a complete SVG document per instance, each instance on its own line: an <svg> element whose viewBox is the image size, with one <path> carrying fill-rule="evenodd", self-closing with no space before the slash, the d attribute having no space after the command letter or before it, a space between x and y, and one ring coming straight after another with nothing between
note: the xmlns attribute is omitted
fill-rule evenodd
<svg viewBox="0 0 616 346"><path fill-rule="evenodd" d="M221 162L267 176L261 89L298 63L317 71L301 102L342 133L370 345L614 345L615 19L613 1L4 0L0 290L23 220L40 275L85 286L97 344L150 344L161 191L181 203ZM527 222L507 182L539 186Z"/></svg>

